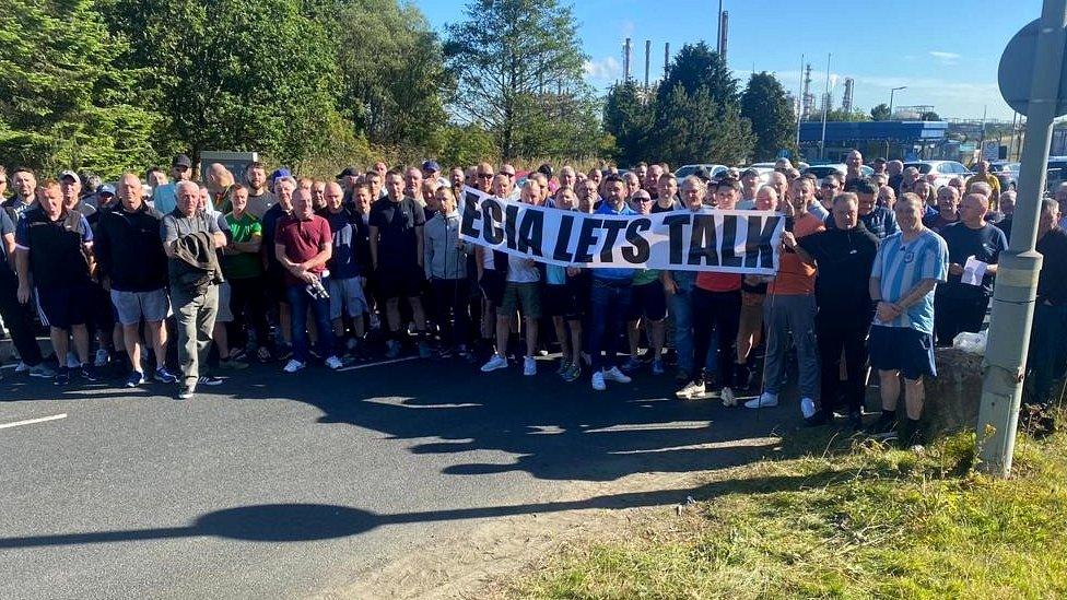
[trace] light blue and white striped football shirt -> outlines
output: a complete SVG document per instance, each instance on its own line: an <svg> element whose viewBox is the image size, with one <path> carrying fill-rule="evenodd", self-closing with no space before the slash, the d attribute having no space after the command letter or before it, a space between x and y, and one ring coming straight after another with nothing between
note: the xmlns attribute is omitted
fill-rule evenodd
<svg viewBox="0 0 1067 600"><path fill-rule="evenodd" d="M896 302L924 279L946 281L949 274L949 247L945 239L930 230L923 230L918 237L905 242L903 233L895 233L878 247L870 277L880 283L881 297ZM907 307L904 314L889 322L875 317L875 325L910 327L924 333L934 332L934 291Z"/></svg>

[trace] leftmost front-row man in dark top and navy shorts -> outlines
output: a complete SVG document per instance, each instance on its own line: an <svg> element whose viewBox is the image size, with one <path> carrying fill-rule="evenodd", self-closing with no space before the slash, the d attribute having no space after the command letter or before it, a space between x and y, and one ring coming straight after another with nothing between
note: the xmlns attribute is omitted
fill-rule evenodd
<svg viewBox="0 0 1067 600"><path fill-rule="evenodd" d="M15 231L19 302L30 302L31 286L36 289L37 304L50 327L52 350L60 364L56 384L70 383L65 362L68 333L74 340L82 377L95 381L85 327L85 297L95 267L93 231L81 213L67 210L58 181L42 184L37 196L40 205L27 211Z"/></svg>

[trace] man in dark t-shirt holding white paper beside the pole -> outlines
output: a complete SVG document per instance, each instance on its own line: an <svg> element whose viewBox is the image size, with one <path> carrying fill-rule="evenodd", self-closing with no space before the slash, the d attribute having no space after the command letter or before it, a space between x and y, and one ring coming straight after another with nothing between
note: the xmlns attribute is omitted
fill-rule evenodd
<svg viewBox="0 0 1067 600"><path fill-rule="evenodd" d="M952 345L961 331L982 329L993 296L993 275L1008 247L1004 232L986 222L989 200L969 193L960 203L960 222L941 230L949 247L949 280L934 296L934 334L939 346Z"/></svg>

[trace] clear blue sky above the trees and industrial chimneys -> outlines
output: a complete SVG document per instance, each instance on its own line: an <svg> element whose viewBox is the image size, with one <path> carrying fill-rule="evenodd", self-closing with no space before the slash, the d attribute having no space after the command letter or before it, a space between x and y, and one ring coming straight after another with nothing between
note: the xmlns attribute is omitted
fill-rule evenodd
<svg viewBox="0 0 1067 600"><path fill-rule="evenodd" d="M566 2L566 0L561 0ZM417 0L437 31L462 19L459 0ZM943 117L1011 119L997 89L1000 54L1012 35L1041 14L1040 0L724 0L729 12L727 59L742 85L754 68L778 75L786 90L800 87L800 54L812 67L819 97L826 52L839 105L843 80L855 80L855 106L889 103L934 105ZM587 80L603 90L622 77L622 45L630 36L632 73L644 78L645 40L652 40L652 79L661 77L664 43L671 54L685 43L715 45L718 0L576 0L578 36L589 57Z"/></svg>

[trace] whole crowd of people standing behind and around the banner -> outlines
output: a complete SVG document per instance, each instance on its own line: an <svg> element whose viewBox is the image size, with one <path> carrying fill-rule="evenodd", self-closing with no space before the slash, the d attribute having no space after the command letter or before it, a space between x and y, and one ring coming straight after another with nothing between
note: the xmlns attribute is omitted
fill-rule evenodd
<svg viewBox="0 0 1067 600"><path fill-rule="evenodd" d="M940 188L899 161L878 158L866 176L858 151L845 162L845 174L821 180L786 160L767 176L697 170L682 180L666 164L542 165L519 181L508 164L445 172L426 161L349 167L330 181L211 164L198 183L185 155L169 173L127 173L114 186L72 170L39 181L27 168L0 170L0 196L9 178L14 191L0 211L0 319L16 370L66 386L125 363L128 387L151 378L176 384L179 398L251 362L295 374L407 352L535 376L558 344L556 374L587 373L597 391L673 367L679 398L736 405L753 392L743 405L755 409L778 403L792 372L806 423L840 413L859 428L869 364L882 413L868 428L911 439L935 346L983 327L1015 191L1000 191L982 161L973 177ZM544 264L462 240L464 186L585 213L777 211L787 222L779 268L762 277ZM1037 402L1067 366L1065 204L1067 186L1042 204ZM54 362L36 342L38 322Z"/></svg>

